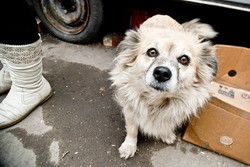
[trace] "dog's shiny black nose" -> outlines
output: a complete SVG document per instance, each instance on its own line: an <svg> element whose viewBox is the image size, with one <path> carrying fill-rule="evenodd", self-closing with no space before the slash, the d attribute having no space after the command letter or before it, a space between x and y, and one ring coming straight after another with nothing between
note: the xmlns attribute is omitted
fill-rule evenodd
<svg viewBox="0 0 250 167"><path fill-rule="evenodd" d="M155 68L153 76L157 81L165 82L171 78L172 73L169 68L160 66Z"/></svg>

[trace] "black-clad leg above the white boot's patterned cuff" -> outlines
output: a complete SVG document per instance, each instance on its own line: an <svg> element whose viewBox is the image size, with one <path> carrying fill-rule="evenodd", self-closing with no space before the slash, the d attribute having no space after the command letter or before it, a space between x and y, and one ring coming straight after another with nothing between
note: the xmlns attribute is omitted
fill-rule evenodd
<svg viewBox="0 0 250 167"><path fill-rule="evenodd" d="M0 1L0 43L24 45L37 41L38 28L26 0Z"/></svg>

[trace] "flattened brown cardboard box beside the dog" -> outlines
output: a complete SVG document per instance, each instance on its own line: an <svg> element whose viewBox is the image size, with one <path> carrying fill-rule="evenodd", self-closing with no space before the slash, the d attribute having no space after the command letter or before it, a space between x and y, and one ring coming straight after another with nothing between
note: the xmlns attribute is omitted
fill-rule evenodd
<svg viewBox="0 0 250 167"><path fill-rule="evenodd" d="M183 139L250 165L250 49L217 45L217 57L215 97Z"/></svg>

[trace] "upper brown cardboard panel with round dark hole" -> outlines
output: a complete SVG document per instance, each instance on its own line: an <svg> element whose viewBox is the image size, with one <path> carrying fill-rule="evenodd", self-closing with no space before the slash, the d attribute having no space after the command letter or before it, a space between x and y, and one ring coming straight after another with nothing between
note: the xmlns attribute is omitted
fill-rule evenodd
<svg viewBox="0 0 250 167"><path fill-rule="evenodd" d="M250 91L250 49L244 47L217 45L219 72L216 80L227 86ZM228 75L235 70L234 77Z"/></svg>

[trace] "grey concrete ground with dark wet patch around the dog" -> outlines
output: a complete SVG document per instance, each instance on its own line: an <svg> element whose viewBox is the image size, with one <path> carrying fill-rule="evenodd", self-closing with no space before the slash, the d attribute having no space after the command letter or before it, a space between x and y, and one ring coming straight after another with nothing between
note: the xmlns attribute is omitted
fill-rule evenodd
<svg viewBox="0 0 250 167"><path fill-rule="evenodd" d="M135 157L120 159L125 128L108 81L115 48L42 37L44 76L54 95L0 131L0 167L246 167L180 137L174 145L140 137Z"/></svg>

